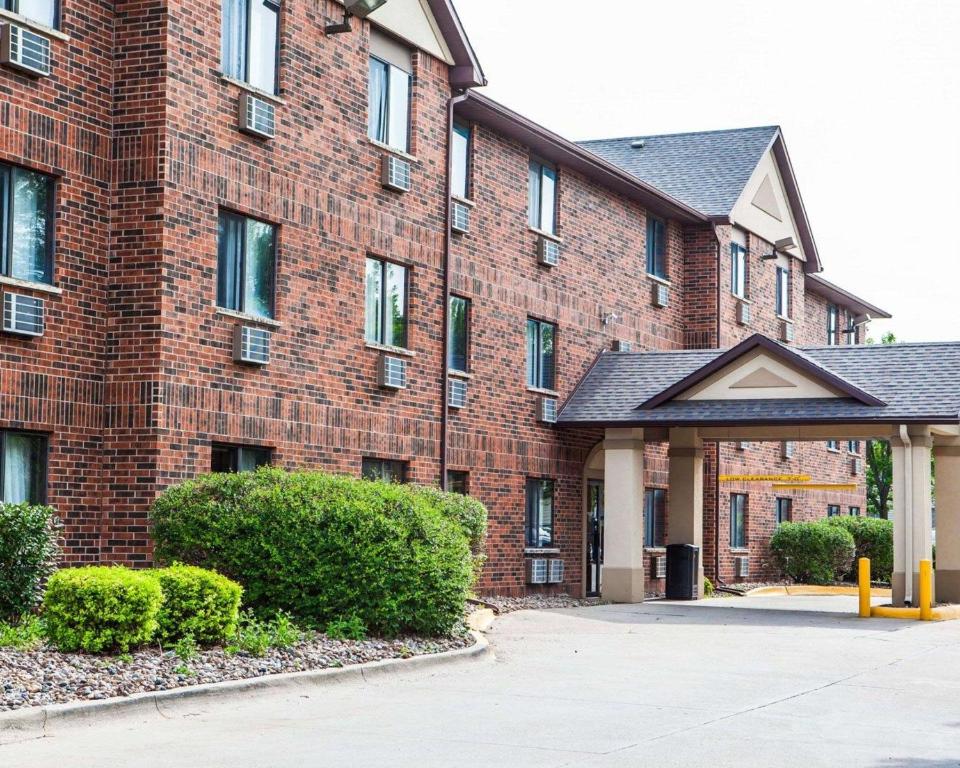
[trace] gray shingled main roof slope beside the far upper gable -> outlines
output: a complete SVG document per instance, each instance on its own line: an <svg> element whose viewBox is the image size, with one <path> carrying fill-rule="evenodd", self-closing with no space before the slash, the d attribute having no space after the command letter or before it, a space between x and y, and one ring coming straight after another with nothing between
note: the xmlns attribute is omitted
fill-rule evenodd
<svg viewBox="0 0 960 768"><path fill-rule="evenodd" d="M726 216L779 130L772 125L577 143L707 216ZM638 139L642 149L630 146Z"/></svg>

